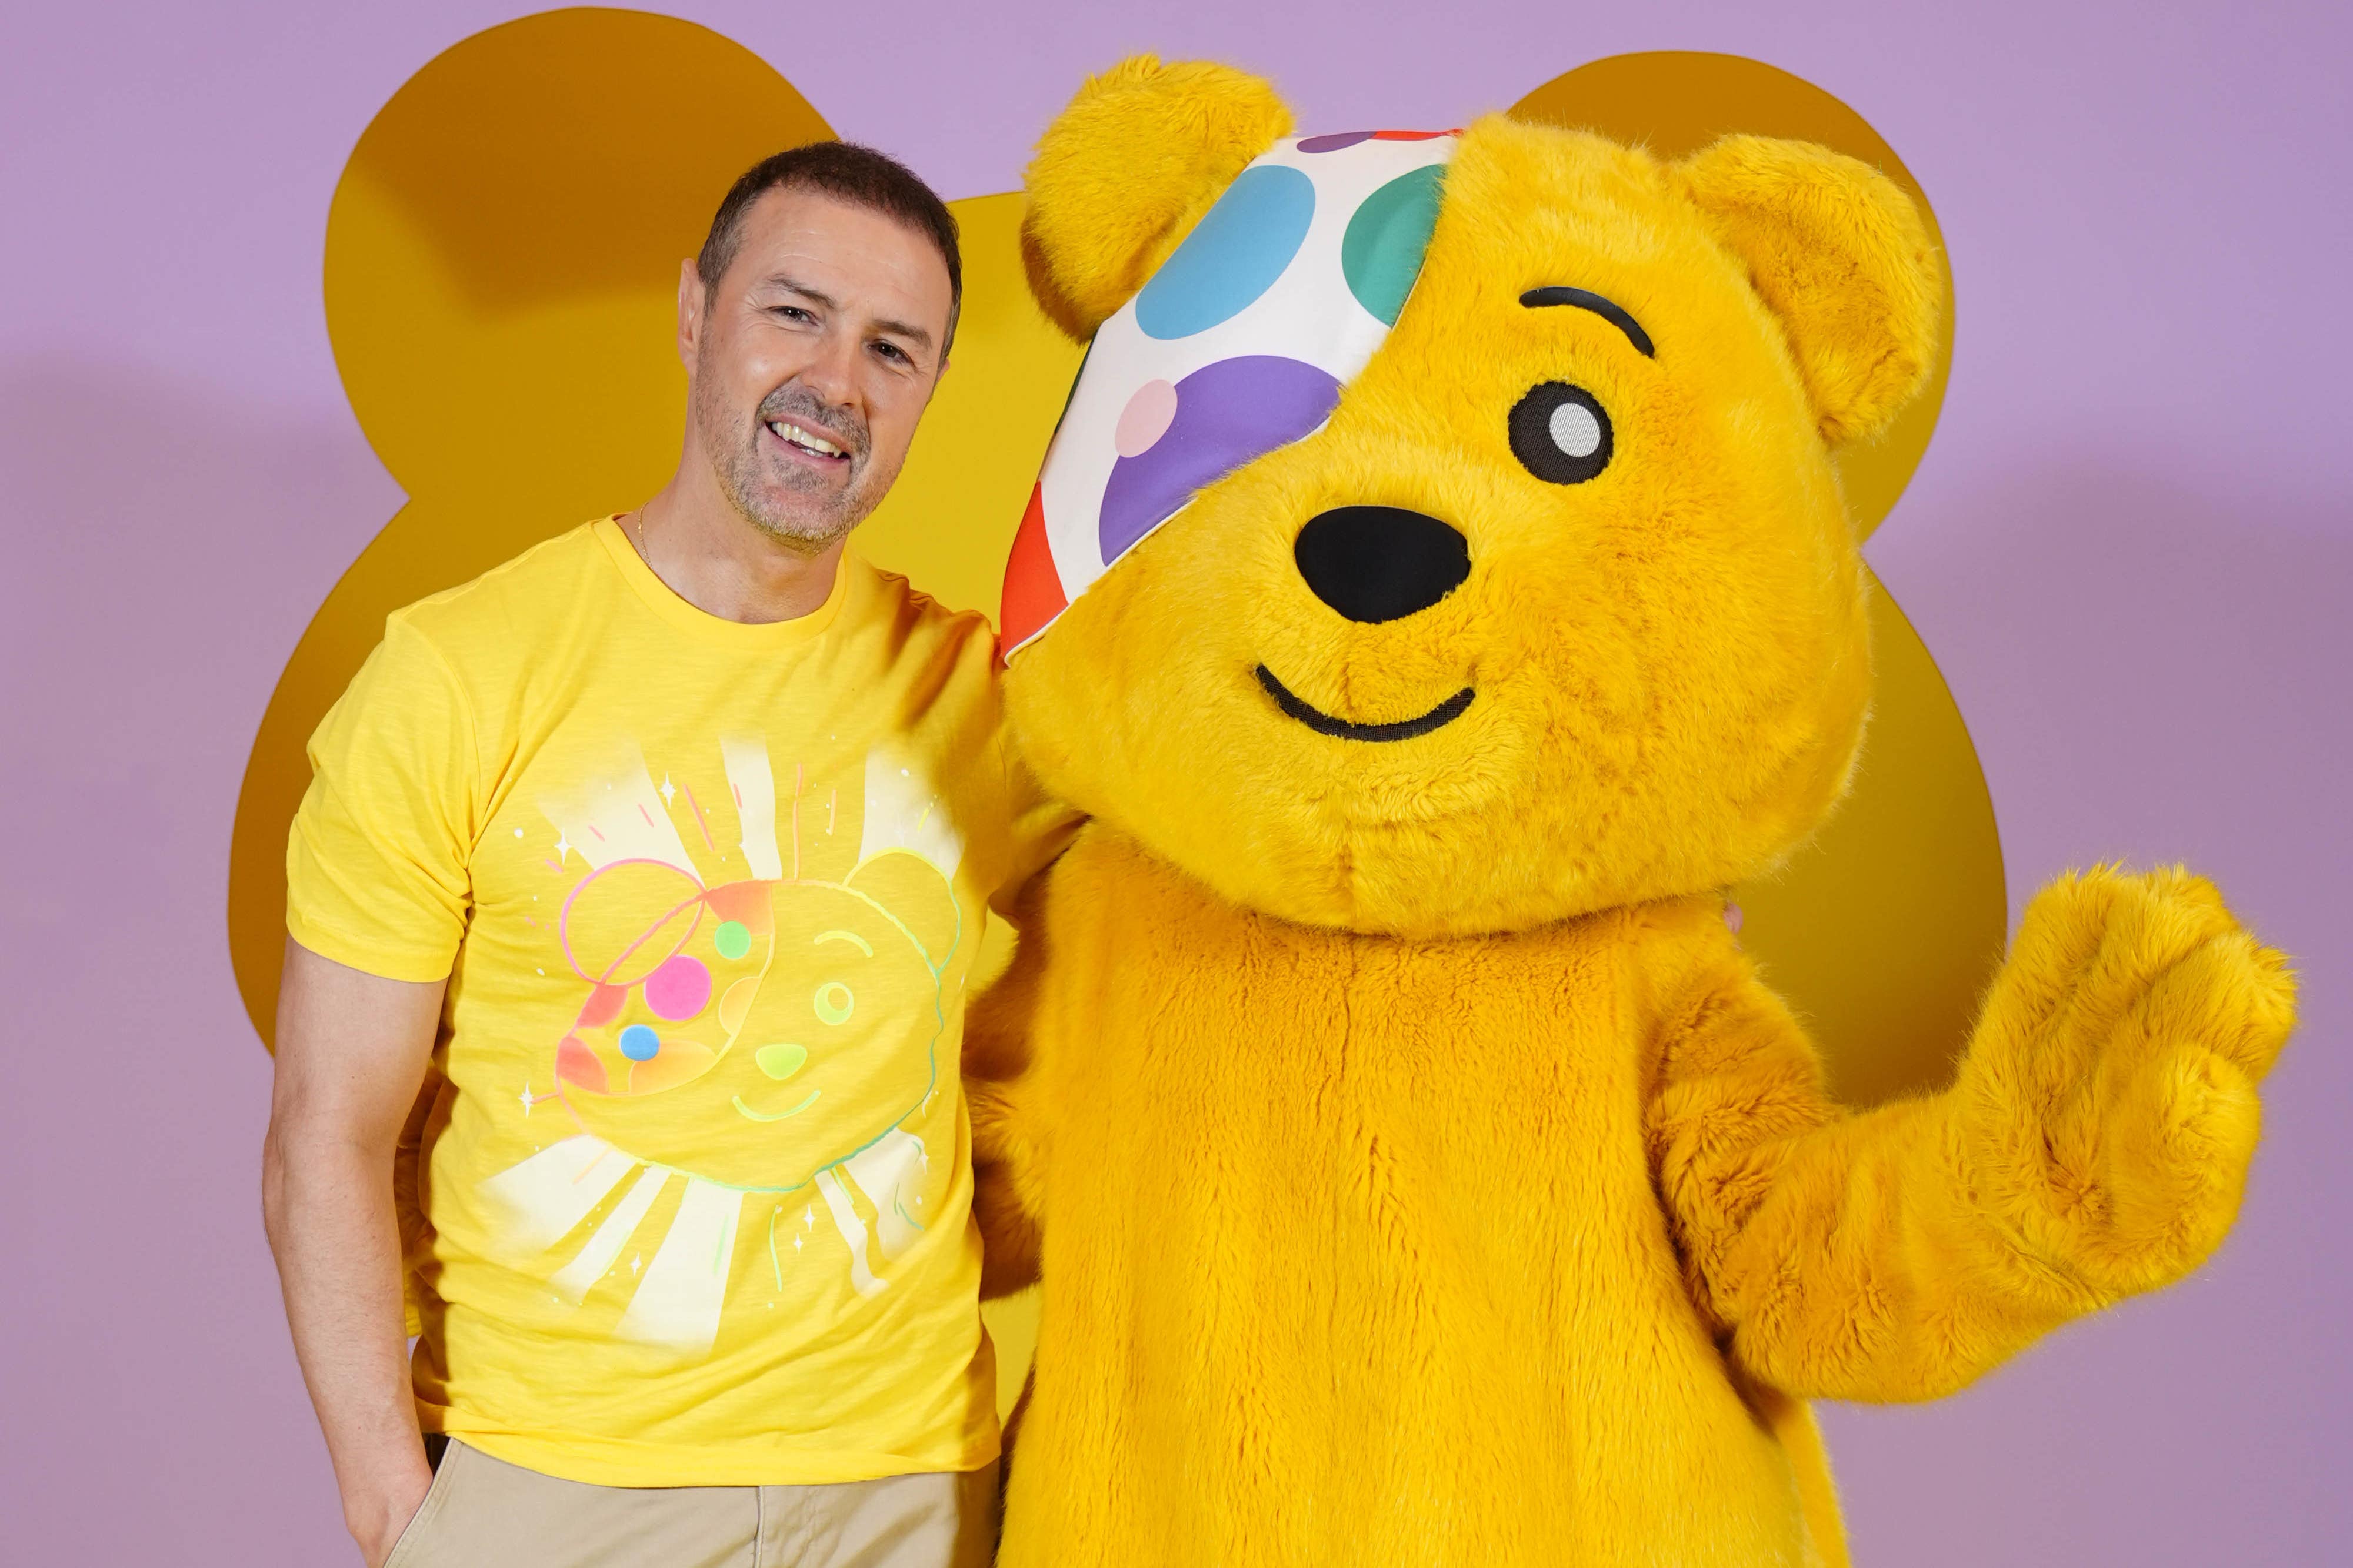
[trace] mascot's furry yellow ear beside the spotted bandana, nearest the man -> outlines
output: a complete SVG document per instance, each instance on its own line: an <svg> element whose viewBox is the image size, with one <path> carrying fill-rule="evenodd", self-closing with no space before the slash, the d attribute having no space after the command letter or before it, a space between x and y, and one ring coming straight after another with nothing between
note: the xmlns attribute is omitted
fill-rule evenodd
<svg viewBox="0 0 2353 1568"><path fill-rule="evenodd" d="M1021 254L1054 324L1089 339L1252 158L1292 129L1273 85L1139 54L1092 78L1031 160Z"/></svg>

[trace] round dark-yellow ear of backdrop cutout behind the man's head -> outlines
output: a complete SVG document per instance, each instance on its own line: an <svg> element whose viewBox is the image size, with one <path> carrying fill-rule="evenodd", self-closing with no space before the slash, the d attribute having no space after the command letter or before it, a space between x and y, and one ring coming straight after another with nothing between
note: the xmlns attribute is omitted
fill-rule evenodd
<svg viewBox="0 0 2353 1568"><path fill-rule="evenodd" d="M344 165L325 277L344 390L409 498L522 510L536 538L659 487L678 263L746 167L831 134L758 54L645 12L527 16L412 75Z"/></svg>

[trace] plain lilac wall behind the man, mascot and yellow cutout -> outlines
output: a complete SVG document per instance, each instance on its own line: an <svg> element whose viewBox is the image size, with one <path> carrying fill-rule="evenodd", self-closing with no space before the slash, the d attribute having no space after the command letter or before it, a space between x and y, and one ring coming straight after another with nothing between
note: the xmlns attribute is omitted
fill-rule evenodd
<svg viewBox="0 0 2353 1568"><path fill-rule="evenodd" d="M400 503L327 353L327 197L416 66L520 9L9 16L9 1561L355 1561L256 1220L268 1063L228 976L224 865L271 684ZM1845 96L1904 153L1953 247L1960 346L1937 444L1871 555L1977 733L2014 898L2068 860L2186 856L2301 957L2308 1001L2245 1220L2202 1276L1941 1406L1828 1413L1857 1556L2334 1559L2353 1537L2353 12L979 9L682 7L948 195L1012 188L1080 75L1132 47L1268 71L1325 129L1457 122L1624 49L1727 49Z"/></svg>

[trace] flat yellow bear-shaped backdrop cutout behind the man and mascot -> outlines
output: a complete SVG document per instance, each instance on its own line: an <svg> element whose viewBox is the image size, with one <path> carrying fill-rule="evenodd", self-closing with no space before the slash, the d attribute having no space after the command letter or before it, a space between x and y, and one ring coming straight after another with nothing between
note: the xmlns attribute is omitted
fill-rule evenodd
<svg viewBox="0 0 2353 1568"><path fill-rule="evenodd" d="M1859 115L1737 56L1595 61L1513 113L1647 141L1666 158L1734 129L1802 136L1882 167L1927 212ZM685 421L678 259L701 244L741 169L824 136L819 113L744 47L621 9L546 12L478 33L409 78L360 136L327 219L327 327L351 407L409 503L311 621L247 762L228 943L264 1039L311 729L388 611L633 505L668 477ZM1024 282L1021 197L951 207L965 235L953 374L856 543L944 604L993 614L1078 348ZM1951 313L1944 331L1951 348ZM1840 456L1861 531L1887 515L1927 447L1946 360L1887 437ZM1977 752L1885 590L1873 595L1873 646L1878 703L1854 792L1779 877L1734 891L1744 940L1812 1016L1833 1086L1857 1103L1946 1074L2005 924ZM1026 1302L993 1305L991 1326L1009 1396L1033 1331Z"/></svg>

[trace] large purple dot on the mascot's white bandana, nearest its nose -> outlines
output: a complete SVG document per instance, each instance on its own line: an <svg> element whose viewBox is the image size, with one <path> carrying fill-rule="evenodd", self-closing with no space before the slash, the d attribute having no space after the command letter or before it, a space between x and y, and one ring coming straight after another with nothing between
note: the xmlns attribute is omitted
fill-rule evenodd
<svg viewBox="0 0 2353 1568"><path fill-rule="evenodd" d="M1104 562L1120 559L1193 491L1332 416L1339 381L1280 355L1202 364L1176 383L1176 418L1141 456L1122 456L1104 487Z"/></svg>

